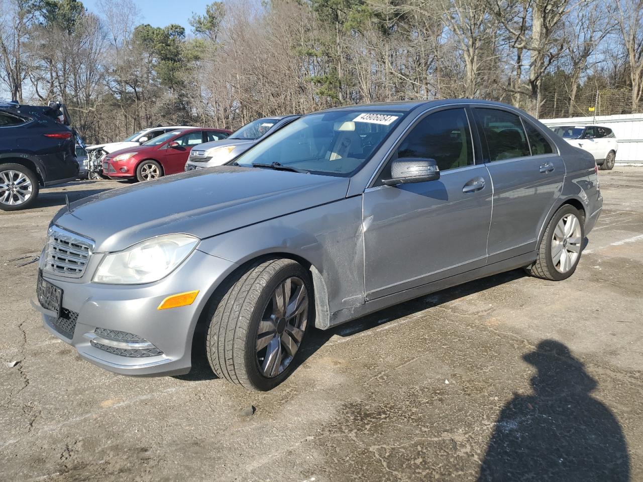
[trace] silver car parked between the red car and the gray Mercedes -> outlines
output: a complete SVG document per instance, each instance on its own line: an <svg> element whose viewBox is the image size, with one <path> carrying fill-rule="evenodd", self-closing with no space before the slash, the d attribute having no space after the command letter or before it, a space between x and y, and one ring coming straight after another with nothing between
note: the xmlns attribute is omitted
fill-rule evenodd
<svg viewBox="0 0 643 482"><path fill-rule="evenodd" d="M299 117L293 114L257 119L235 130L226 139L199 144L190 151L185 170L224 165Z"/></svg>

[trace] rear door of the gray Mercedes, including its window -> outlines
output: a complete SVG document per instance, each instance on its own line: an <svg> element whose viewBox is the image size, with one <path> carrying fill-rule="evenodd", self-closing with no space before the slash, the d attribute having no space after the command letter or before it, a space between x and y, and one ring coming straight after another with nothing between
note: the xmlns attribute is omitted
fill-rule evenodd
<svg viewBox="0 0 643 482"><path fill-rule="evenodd" d="M487 263L494 263L536 249L540 228L561 194L565 164L530 120L502 108L474 110L493 181Z"/></svg>

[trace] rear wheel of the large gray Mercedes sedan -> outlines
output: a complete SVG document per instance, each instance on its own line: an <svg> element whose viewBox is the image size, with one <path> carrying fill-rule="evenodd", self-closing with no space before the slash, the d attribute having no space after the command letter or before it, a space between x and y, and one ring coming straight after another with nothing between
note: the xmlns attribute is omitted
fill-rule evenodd
<svg viewBox="0 0 643 482"><path fill-rule="evenodd" d="M536 262L527 272L537 278L562 281L574 274L581 259L585 238L581 213L565 204L556 211L545 229Z"/></svg>

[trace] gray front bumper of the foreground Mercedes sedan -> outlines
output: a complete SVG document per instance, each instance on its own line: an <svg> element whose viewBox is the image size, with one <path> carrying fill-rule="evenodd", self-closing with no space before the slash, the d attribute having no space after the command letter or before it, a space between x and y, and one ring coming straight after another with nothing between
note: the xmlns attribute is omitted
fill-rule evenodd
<svg viewBox="0 0 643 482"><path fill-rule="evenodd" d="M57 314L32 299L32 306L42 314L44 326L74 346L80 357L114 373L138 376L188 373L197 321L212 292L236 267L235 263L196 250L163 280L145 285L92 283L97 264L98 261L89 263L87 272L77 280L43 273L45 280L63 290L62 308L69 318L61 329ZM158 310L167 296L187 290L199 290L192 305ZM69 316L69 312L73 315ZM136 339L133 342L123 339L121 345L112 341L107 350L103 334L108 330L133 334ZM143 355L128 351L134 350L140 339L158 348L161 354L154 350ZM123 350L114 350L114 346Z"/></svg>

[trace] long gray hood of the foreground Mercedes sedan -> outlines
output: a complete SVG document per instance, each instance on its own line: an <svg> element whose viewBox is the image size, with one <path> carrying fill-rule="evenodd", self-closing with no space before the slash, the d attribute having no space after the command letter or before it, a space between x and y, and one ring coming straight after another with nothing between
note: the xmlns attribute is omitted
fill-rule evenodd
<svg viewBox="0 0 643 482"><path fill-rule="evenodd" d="M219 166L99 193L51 221L120 251L168 233L208 238L346 196L349 179L264 168Z"/></svg>

